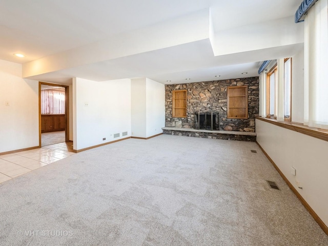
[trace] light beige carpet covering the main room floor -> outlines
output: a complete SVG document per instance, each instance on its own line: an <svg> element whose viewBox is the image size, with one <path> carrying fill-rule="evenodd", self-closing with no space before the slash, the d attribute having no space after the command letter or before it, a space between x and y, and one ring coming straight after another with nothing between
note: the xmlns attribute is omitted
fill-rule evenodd
<svg viewBox="0 0 328 246"><path fill-rule="evenodd" d="M328 245L254 142L128 139L5 181L0 194L1 245Z"/></svg>

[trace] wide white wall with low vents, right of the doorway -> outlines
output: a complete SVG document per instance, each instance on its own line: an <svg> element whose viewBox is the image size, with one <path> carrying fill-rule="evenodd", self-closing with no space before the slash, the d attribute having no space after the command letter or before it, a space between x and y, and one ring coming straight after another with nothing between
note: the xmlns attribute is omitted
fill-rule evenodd
<svg viewBox="0 0 328 246"><path fill-rule="evenodd" d="M73 129L75 150L131 136L130 79L73 79Z"/></svg>

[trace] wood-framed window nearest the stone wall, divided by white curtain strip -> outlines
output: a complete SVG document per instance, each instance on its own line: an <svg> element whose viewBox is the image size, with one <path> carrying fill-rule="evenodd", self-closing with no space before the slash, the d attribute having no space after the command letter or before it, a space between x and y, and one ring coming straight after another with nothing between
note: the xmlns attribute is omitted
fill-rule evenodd
<svg viewBox="0 0 328 246"><path fill-rule="evenodd" d="M292 58L285 58L283 64L283 113L285 121L291 121L292 101ZM267 74L267 117L277 118L278 105L278 67L277 64ZM281 94L282 95L282 94ZM280 102L280 101L279 101Z"/></svg>

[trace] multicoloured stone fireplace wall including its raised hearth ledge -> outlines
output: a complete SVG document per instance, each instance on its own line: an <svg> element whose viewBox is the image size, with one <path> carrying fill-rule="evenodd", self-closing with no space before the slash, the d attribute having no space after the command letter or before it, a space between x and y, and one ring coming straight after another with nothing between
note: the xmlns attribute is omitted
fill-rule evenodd
<svg viewBox="0 0 328 246"><path fill-rule="evenodd" d="M248 119L227 118L228 86L248 86ZM187 90L187 117L172 117L172 91ZM179 85L166 85L166 124L164 134L194 137L255 141L255 116L259 109L258 77L204 81ZM219 114L216 131L194 129L194 112L215 111Z"/></svg>

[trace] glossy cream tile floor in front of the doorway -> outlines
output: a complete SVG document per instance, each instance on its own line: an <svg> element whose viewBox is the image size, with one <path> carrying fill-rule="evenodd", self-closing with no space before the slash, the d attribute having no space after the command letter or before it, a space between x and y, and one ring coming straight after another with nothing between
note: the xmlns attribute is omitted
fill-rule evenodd
<svg viewBox="0 0 328 246"><path fill-rule="evenodd" d="M0 183L75 154L72 142L0 155Z"/></svg>

